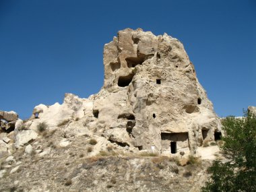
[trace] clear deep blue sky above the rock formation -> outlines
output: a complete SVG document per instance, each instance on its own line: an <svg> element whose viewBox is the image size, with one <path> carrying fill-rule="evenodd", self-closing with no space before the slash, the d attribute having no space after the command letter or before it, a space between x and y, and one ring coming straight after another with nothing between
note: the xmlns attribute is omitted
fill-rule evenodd
<svg viewBox="0 0 256 192"><path fill-rule="evenodd" d="M103 46L124 28L179 38L220 117L256 106L255 0L0 0L0 110L24 119L97 93Z"/></svg>

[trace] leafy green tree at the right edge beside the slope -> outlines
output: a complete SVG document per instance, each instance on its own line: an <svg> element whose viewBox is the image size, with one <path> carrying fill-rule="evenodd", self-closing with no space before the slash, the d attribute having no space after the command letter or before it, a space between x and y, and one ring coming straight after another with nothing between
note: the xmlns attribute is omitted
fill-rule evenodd
<svg viewBox="0 0 256 192"><path fill-rule="evenodd" d="M203 192L256 191L256 117L227 117L222 121L225 136L221 147L226 161L215 161L209 168L210 181Z"/></svg>

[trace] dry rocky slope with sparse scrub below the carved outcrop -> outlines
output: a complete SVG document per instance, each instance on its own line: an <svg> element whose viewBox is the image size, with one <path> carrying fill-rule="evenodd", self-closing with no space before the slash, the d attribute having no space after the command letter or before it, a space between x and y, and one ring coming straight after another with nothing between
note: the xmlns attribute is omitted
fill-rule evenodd
<svg viewBox="0 0 256 192"><path fill-rule="evenodd" d="M42 132L28 144L32 150L2 158L0 191L199 191L208 177L210 160L119 150L115 143L92 156L96 139L83 135L60 145L59 134Z"/></svg>

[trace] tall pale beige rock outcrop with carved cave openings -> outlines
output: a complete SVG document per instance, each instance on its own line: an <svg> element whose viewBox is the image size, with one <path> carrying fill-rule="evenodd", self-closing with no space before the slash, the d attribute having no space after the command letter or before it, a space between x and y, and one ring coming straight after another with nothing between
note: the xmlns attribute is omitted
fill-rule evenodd
<svg viewBox="0 0 256 192"><path fill-rule="evenodd" d="M98 94L88 99L66 94L63 104L40 104L30 121L15 129L36 131L42 122L63 129L65 138L97 137L98 151L114 143L133 151L194 154L221 133L183 44L141 29L121 30L105 44L104 86Z"/></svg>

